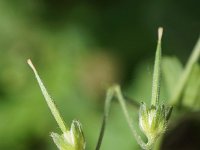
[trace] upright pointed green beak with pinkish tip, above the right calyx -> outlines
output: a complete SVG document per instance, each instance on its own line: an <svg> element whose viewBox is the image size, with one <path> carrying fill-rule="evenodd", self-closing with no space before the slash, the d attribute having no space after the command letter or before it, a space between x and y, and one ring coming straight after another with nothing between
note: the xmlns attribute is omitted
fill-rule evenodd
<svg viewBox="0 0 200 150"><path fill-rule="evenodd" d="M153 83L152 83L152 97L151 104L156 106L160 96L160 80L161 80L161 40L162 40L163 28L158 29L158 43L156 49L156 57L153 71Z"/></svg>

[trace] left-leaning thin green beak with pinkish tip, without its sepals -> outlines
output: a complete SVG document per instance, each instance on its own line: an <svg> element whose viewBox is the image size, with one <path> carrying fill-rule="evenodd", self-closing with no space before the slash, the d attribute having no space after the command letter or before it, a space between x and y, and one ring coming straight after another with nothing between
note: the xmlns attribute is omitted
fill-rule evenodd
<svg viewBox="0 0 200 150"><path fill-rule="evenodd" d="M42 94L44 95L44 98L45 98L45 100L46 100L46 102L47 102L47 104L48 104L48 106L49 106L49 108L51 110L51 113L53 114L56 122L58 123L58 125L59 125L60 129L62 130L62 132L63 133L66 132L67 129L66 129L65 123L64 123L64 121L63 121L58 109L56 108L56 105L55 105L53 99L48 94L48 92L47 92L42 80L40 79L40 76L38 75L37 70L35 69L35 67L32 64L30 59L27 61L27 63L29 64L29 66L31 67L31 69L33 70L33 72L35 74L35 77L36 77L36 79L38 81L38 84L40 86Z"/></svg>

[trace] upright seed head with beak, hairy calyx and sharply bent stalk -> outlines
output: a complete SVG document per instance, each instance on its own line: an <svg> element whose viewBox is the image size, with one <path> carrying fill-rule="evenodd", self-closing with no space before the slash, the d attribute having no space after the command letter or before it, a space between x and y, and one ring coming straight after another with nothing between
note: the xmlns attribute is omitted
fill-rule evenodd
<svg viewBox="0 0 200 150"><path fill-rule="evenodd" d="M141 146L142 149L150 150L157 138L162 135L167 128L167 122L170 117L172 107L166 107L165 105L159 104L160 98L160 74L161 74L161 39L163 34L163 28L158 29L158 43L156 50L156 57L154 63L154 71L153 71L153 85L152 85L152 98L151 98L151 106L147 107L145 103L140 104L139 109L139 126L142 132L146 135L148 142L145 143L142 138L138 135L135 130L135 127L132 124L131 117L128 113L126 107L126 99L123 97L121 89L118 85L115 85L107 91L106 102L105 102L105 111L103 123L99 135L99 140L96 146L96 150L100 149L101 142L104 135L104 130L109 114L110 104L113 97L119 101L126 121L131 129L131 132L137 141L137 143ZM138 105L136 102L134 103L136 107Z"/></svg>

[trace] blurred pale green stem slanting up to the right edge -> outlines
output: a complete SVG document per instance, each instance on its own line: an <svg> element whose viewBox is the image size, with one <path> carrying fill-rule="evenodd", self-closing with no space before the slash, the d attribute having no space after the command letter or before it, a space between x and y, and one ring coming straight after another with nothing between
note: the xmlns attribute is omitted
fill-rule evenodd
<svg viewBox="0 0 200 150"><path fill-rule="evenodd" d="M200 38L197 41L197 44L195 45L192 54L190 55L190 58L186 64L186 67L178 81L178 84L175 88L174 94L172 95L172 98L170 100L170 105L176 105L178 104L182 91L185 87L185 84L192 72L192 68L194 64L198 61L200 56Z"/></svg>

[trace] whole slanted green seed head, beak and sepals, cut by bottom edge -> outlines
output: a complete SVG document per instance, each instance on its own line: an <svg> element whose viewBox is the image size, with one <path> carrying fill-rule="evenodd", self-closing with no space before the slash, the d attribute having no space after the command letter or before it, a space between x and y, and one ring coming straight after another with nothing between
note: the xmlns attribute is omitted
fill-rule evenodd
<svg viewBox="0 0 200 150"><path fill-rule="evenodd" d="M57 124L62 131L61 135L57 133L51 133L51 137L53 138L54 143L59 150L84 150L86 144L81 123L77 120L73 120L71 128L67 129L58 109L56 108L56 105L54 104L54 101L51 99L42 80L40 79L37 70L35 69L30 59L27 62L33 70L38 84L41 88L42 94L44 95L45 100L52 112L52 115L54 116Z"/></svg>

